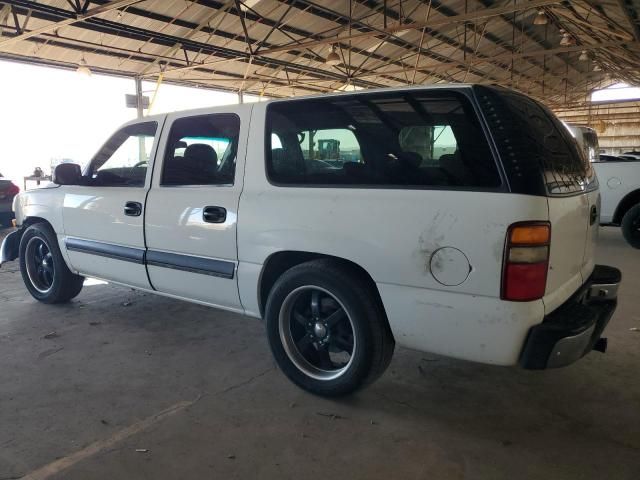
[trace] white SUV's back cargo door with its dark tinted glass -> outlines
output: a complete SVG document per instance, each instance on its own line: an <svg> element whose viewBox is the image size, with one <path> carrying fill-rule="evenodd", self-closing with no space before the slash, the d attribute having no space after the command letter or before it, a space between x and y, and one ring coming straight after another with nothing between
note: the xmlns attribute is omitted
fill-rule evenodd
<svg viewBox="0 0 640 480"><path fill-rule="evenodd" d="M591 274L598 184L569 130L547 108L499 87L474 87L513 193L544 196L551 245L544 297L553 311Z"/></svg>

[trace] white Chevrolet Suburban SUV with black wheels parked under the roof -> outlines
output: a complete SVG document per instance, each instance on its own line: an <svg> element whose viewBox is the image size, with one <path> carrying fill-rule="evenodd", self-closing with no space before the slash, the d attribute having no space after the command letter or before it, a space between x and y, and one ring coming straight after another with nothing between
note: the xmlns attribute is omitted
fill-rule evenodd
<svg viewBox="0 0 640 480"><path fill-rule="evenodd" d="M448 85L150 116L20 194L45 303L83 277L265 320L281 370L340 395L395 344L544 369L604 351L620 272L594 265L598 184L515 92Z"/></svg>

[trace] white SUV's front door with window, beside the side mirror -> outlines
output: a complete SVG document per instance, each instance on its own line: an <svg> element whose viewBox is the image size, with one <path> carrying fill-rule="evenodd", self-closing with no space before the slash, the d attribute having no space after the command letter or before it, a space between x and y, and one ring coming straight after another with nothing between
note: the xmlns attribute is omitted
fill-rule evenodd
<svg viewBox="0 0 640 480"><path fill-rule="evenodd" d="M62 187L69 262L80 273L151 288L144 266L144 204L161 121L132 123L93 158L84 185Z"/></svg>

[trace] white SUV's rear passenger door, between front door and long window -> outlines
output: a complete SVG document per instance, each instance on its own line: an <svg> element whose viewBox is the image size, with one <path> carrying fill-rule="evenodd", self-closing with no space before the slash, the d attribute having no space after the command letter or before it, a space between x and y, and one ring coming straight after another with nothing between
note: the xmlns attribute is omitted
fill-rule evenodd
<svg viewBox="0 0 640 480"><path fill-rule="evenodd" d="M167 117L145 233L156 290L240 311L236 220L251 107L233 112Z"/></svg>

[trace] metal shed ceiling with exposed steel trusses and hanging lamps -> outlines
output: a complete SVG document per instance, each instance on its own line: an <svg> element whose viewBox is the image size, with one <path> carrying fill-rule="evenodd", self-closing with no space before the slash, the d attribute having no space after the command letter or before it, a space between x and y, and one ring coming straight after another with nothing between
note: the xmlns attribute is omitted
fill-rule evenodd
<svg viewBox="0 0 640 480"><path fill-rule="evenodd" d="M640 85L637 0L0 2L0 58L269 97L497 83L552 106Z"/></svg>

